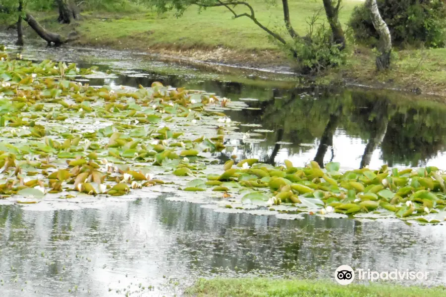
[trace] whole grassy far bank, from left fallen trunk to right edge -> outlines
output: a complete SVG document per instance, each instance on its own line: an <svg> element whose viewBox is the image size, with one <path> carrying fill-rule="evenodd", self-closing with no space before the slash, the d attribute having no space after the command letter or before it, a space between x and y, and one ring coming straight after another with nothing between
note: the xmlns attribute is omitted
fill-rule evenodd
<svg viewBox="0 0 446 297"><path fill-rule="evenodd" d="M279 5L267 6L263 0L251 1L256 17L271 28L282 24ZM340 21L346 23L358 0L344 0ZM322 1L290 1L292 24L305 34L307 21L322 8ZM173 13L134 7L124 12L84 11L83 20L70 25L56 22L57 13L36 13L50 30L61 34L76 31L78 45L133 49L157 52L186 59L236 64L249 67L292 66L293 63L271 43L267 34L249 18L232 19L223 7L208 8L198 14L197 7L185 11L181 18ZM322 13L321 21L325 15ZM29 31L29 35L34 35ZM357 45L349 45L351 57L346 65L331 71L325 81L346 80L353 83L405 90L421 89L423 93L446 95L446 49L395 50L393 69L377 73L375 53Z"/></svg>

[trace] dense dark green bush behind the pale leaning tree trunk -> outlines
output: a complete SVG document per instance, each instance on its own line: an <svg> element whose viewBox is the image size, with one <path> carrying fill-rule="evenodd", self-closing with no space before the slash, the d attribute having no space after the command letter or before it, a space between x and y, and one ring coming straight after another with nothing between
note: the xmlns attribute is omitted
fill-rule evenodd
<svg viewBox="0 0 446 297"><path fill-rule="evenodd" d="M446 45L444 0L377 0L395 46L438 48ZM376 46L378 33L364 4L352 13L349 26L359 42Z"/></svg>

